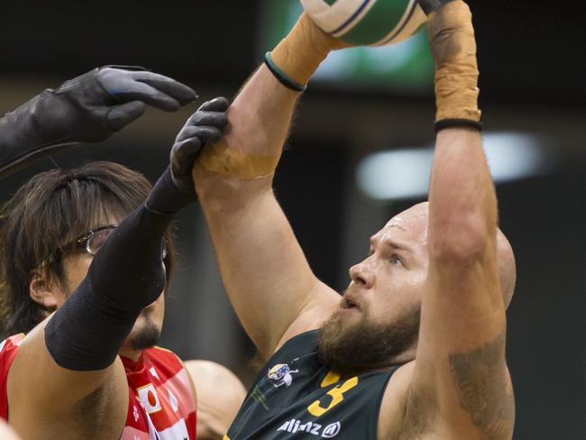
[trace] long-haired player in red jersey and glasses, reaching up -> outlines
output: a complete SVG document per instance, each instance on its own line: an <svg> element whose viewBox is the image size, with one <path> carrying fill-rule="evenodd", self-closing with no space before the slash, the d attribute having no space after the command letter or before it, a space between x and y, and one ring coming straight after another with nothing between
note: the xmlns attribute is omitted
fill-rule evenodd
<svg viewBox="0 0 586 440"><path fill-rule="evenodd" d="M24 440L195 438L188 371L152 345L171 273L169 222L196 198L197 151L220 136L198 122L222 126L225 116L190 119L152 189L139 173L94 162L41 173L4 206L7 330L26 335L0 344L0 417Z"/></svg>

